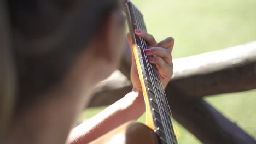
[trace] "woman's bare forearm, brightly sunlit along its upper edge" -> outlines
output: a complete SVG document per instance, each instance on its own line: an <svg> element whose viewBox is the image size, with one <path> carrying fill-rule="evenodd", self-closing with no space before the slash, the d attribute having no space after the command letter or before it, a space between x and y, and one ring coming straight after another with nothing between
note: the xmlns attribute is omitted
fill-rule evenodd
<svg viewBox="0 0 256 144"><path fill-rule="evenodd" d="M88 143L119 125L138 119L145 111L141 92L132 91L71 131L68 142Z"/></svg>

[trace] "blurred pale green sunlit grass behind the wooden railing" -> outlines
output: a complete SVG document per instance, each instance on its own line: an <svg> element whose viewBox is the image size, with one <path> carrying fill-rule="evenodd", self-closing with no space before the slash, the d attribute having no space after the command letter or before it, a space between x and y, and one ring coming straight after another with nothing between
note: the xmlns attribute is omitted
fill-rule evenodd
<svg viewBox="0 0 256 144"><path fill-rule="evenodd" d="M174 37L174 58L256 40L254 0L133 2L141 9L148 32L153 34L156 40ZM256 91L215 95L205 99L232 122L236 122L256 137ZM83 114L83 118L89 118L103 108L89 109ZM139 121L144 122L144 116ZM181 125L176 124L176 127L181 133L179 143L200 143Z"/></svg>

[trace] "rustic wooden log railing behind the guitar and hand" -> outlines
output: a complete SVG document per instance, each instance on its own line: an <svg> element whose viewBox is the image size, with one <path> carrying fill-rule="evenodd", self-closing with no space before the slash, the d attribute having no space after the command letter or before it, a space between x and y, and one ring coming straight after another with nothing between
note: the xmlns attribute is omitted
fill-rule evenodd
<svg viewBox="0 0 256 144"><path fill-rule="evenodd" d="M100 83L89 106L112 104L131 91L130 55L128 50L125 53L119 70L127 78L119 75ZM256 89L256 41L174 59L173 63L174 75L166 94L174 119L202 143L256 143L202 99Z"/></svg>

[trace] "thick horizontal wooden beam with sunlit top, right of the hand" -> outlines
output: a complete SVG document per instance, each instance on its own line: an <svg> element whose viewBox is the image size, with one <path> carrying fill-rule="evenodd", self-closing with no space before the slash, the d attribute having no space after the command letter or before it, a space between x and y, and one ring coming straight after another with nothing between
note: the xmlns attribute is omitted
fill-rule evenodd
<svg viewBox="0 0 256 144"><path fill-rule="evenodd" d="M190 97L241 92L256 88L256 41L229 49L174 59L174 75L166 88Z"/></svg>

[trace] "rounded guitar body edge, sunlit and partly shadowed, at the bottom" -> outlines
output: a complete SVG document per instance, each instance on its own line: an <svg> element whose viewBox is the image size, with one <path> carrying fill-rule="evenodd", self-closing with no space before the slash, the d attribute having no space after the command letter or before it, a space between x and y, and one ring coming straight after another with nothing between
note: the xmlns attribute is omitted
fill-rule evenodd
<svg viewBox="0 0 256 144"><path fill-rule="evenodd" d="M127 122L91 143L158 144L159 141L156 133L146 125Z"/></svg>

